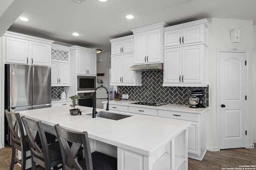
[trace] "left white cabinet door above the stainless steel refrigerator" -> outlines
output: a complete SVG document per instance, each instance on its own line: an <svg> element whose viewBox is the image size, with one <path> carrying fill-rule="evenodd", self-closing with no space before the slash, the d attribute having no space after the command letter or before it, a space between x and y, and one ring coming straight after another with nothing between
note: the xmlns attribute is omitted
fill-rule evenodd
<svg viewBox="0 0 256 170"><path fill-rule="evenodd" d="M6 62L28 64L28 41L6 37Z"/></svg>

